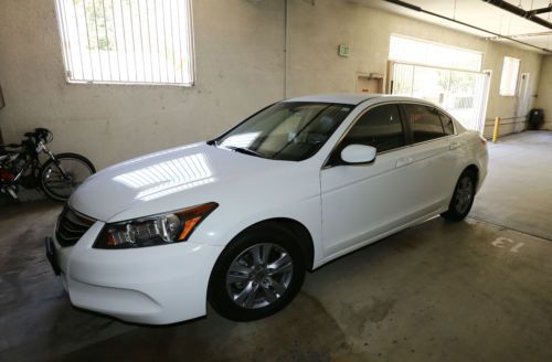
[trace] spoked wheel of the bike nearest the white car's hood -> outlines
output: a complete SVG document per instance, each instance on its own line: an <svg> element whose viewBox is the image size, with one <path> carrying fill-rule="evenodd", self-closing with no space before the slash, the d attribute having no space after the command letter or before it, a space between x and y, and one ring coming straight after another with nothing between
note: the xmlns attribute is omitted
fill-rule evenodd
<svg viewBox="0 0 552 362"><path fill-rule="evenodd" d="M65 180L60 168L52 160L44 162L40 169L39 178L42 191L52 200L67 201L83 181L96 173L94 164L84 156L77 153L60 153L55 156L63 170L72 178Z"/></svg>

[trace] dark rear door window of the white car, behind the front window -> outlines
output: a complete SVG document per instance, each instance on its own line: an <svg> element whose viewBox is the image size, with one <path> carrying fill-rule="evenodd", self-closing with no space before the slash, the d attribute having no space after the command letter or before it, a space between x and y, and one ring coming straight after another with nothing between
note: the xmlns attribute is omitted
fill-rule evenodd
<svg viewBox="0 0 552 362"><path fill-rule="evenodd" d="M445 136L438 110L423 105L404 105L411 124L414 142L423 142Z"/></svg>

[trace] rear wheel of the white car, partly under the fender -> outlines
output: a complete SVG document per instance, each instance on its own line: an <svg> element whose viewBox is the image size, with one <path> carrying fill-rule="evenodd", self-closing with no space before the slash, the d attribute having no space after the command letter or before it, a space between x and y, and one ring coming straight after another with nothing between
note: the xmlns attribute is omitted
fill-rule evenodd
<svg viewBox="0 0 552 362"><path fill-rule="evenodd" d="M440 214L440 216L448 221L461 221L471 210L474 199L476 195L477 173L471 170L465 170L454 189L453 199L448 204L448 210Z"/></svg>

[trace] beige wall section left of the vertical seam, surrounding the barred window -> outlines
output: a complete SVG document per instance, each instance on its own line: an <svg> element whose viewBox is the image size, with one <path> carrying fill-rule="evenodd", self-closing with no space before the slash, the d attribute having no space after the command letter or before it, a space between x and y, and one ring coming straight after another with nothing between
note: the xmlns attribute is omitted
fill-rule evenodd
<svg viewBox="0 0 552 362"><path fill-rule="evenodd" d="M282 1L193 1L195 87L77 85L64 78L55 1L1 0L4 139L45 126L54 151L103 168L212 137L284 97L284 13Z"/></svg>

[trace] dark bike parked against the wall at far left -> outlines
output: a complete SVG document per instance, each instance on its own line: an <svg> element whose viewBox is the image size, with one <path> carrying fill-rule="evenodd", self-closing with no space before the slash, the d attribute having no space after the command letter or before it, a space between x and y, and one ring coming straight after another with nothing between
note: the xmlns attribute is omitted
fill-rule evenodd
<svg viewBox="0 0 552 362"><path fill-rule="evenodd" d="M18 199L19 187L40 188L55 201L66 201L91 174L94 164L77 153L54 155L46 146L53 134L45 128L26 132L21 143L0 145L0 193ZM47 160L41 162L40 155Z"/></svg>

